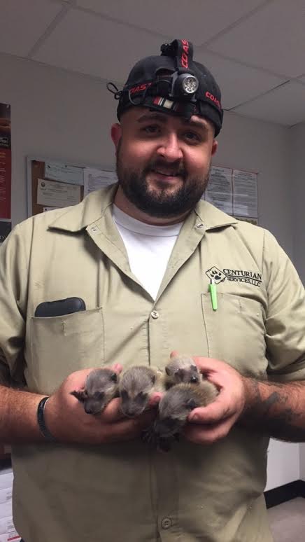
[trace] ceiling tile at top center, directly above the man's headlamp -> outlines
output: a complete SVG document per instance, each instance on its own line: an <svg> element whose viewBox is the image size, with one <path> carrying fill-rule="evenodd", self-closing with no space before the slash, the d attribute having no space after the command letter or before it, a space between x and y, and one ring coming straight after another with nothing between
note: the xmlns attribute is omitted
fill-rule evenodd
<svg viewBox="0 0 305 542"><path fill-rule="evenodd" d="M225 27L249 13L262 0L77 0L76 4L102 15L136 25L151 32L169 34L173 38L186 38L201 45ZM139 49L142 43L139 42Z"/></svg>

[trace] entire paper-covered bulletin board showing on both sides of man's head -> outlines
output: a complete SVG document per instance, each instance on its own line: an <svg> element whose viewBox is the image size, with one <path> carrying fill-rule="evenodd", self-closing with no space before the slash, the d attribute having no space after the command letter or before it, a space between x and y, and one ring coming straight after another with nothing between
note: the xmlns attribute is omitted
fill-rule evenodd
<svg viewBox="0 0 305 542"><path fill-rule="evenodd" d="M257 224L257 175L213 165L202 199L239 220ZM77 204L90 192L117 181L111 169L28 157L28 216Z"/></svg>

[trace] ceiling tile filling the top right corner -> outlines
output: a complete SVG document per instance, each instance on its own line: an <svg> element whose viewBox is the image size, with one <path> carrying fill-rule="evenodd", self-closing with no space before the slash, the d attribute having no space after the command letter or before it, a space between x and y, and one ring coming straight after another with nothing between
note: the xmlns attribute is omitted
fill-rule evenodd
<svg viewBox="0 0 305 542"><path fill-rule="evenodd" d="M305 73L304 28L304 0L276 0L212 40L208 48L288 78L297 77Z"/></svg>

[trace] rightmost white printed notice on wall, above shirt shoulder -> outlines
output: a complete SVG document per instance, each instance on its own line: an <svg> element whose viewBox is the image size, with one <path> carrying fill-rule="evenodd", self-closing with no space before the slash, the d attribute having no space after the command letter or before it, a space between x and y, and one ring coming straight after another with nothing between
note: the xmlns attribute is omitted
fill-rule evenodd
<svg viewBox="0 0 305 542"><path fill-rule="evenodd" d="M257 173L233 169L234 216L257 217Z"/></svg>

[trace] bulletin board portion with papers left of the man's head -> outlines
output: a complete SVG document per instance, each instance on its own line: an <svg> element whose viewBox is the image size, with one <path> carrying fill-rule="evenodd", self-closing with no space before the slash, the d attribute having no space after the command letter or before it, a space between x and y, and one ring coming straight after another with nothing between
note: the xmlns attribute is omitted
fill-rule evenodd
<svg viewBox="0 0 305 542"><path fill-rule="evenodd" d="M111 169L27 157L27 216L77 204L85 195L115 183Z"/></svg>

